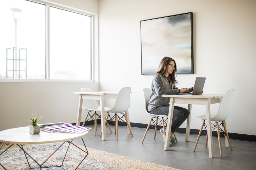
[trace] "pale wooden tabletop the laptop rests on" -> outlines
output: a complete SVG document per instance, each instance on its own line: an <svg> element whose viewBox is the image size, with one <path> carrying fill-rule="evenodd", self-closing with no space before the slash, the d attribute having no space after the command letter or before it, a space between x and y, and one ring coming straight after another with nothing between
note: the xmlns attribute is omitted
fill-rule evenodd
<svg viewBox="0 0 256 170"><path fill-rule="evenodd" d="M162 95L162 97L197 98L197 99L218 99L218 98L222 98L222 97L223 97L223 94Z"/></svg>

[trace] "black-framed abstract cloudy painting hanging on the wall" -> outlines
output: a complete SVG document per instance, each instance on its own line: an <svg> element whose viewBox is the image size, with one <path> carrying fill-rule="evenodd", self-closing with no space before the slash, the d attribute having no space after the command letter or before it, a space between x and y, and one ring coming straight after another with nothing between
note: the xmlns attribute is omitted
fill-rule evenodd
<svg viewBox="0 0 256 170"><path fill-rule="evenodd" d="M173 58L177 73L194 73L193 13L141 21L141 74L154 74L162 58Z"/></svg>

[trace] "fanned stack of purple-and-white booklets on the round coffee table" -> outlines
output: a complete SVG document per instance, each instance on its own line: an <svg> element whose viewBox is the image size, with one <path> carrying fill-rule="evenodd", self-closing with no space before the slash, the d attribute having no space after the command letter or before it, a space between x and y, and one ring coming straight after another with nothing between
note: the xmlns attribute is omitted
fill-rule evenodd
<svg viewBox="0 0 256 170"><path fill-rule="evenodd" d="M40 124L40 130L54 133L54 132L65 132L65 133L84 133L87 130L91 129L91 127L84 126L76 126L64 122L59 123L48 123L48 124Z"/></svg>

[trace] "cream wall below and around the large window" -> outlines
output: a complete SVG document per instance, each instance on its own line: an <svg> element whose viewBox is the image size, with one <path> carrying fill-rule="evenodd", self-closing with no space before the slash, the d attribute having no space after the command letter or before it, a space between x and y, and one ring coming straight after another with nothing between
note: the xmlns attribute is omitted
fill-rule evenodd
<svg viewBox="0 0 256 170"><path fill-rule="evenodd" d="M95 19L98 19L98 1L52 0L52 2L88 11L95 14ZM98 25L95 25L95 28L97 31ZM97 48L94 53L98 55ZM97 62L98 57L94 59L95 80L98 80ZM29 125L27 120L31 119L31 114L34 113L37 116L43 115L40 123L76 123L79 95L73 93L79 92L82 87L98 91L99 82L0 82L0 130L27 126ZM85 116L86 112L82 111L82 117Z"/></svg>

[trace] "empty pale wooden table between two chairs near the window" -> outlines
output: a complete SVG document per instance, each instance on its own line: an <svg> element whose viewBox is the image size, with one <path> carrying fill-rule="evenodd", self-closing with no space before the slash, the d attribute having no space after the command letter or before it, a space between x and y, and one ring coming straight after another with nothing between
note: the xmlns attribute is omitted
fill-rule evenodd
<svg viewBox="0 0 256 170"><path fill-rule="evenodd" d="M131 92L132 93L132 92ZM115 99L118 95L118 92L110 92L110 91L92 91L92 92L74 92L74 94L79 95L78 101L78 112L77 112L77 125L80 125L81 122L81 113L82 113L82 104L83 99L93 99L100 100L100 114L101 114L101 131L102 131L102 140L106 140L106 123L105 123L105 100L107 99ZM125 111L125 116L127 118L127 124L130 125L130 118L128 110ZM127 126L128 134L131 134L128 126Z"/></svg>

